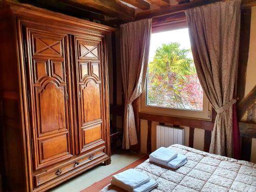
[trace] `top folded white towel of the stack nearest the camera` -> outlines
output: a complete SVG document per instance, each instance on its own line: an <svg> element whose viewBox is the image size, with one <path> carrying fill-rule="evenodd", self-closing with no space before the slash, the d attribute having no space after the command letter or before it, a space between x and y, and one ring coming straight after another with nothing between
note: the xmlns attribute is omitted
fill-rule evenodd
<svg viewBox="0 0 256 192"><path fill-rule="evenodd" d="M150 177L131 168L112 176L111 184L127 191L133 191L134 188L137 188L148 181L150 181Z"/></svg>

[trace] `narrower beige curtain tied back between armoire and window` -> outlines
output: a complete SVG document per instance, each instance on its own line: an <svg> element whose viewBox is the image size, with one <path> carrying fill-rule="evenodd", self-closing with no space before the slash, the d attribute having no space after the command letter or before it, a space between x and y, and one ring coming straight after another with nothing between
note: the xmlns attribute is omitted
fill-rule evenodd
<svg viewBox="0 0 256 192"><path fill-rule="evenodd" d="M120 26L121 67L125 99L123 148L138 143L132 102L144 89L152 19L143 19Z"/></svg>

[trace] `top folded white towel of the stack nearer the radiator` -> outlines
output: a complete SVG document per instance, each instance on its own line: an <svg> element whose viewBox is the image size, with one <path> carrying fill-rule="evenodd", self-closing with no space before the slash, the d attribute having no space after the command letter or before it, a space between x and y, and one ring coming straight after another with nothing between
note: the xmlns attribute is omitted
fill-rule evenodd
<svg viewBox="0 0 256 192"><path fill-rule="evenodd" d="M162 162L169 162L177 156L177 153L169 148L160 147L150 154L151 158L157 159Z"/></svg>

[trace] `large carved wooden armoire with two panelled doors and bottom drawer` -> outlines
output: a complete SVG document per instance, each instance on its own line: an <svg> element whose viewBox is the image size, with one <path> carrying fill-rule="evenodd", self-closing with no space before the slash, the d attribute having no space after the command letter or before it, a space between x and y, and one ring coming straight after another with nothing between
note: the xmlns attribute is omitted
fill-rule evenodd
<svg viewBox="0 0 256 192"><path fill-rule="evenodd" d="M9 191L45 191L110 163L106 36L112 31L0 3L1 167Z"/></svg>

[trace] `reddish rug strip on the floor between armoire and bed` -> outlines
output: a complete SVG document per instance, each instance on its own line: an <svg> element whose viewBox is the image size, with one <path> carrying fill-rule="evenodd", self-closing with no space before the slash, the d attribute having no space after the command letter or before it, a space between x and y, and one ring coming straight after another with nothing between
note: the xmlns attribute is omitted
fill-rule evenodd
<svg viewBox="0 0 256 192"><path fill-rule="evenodd" d="M148 159L148 156L145 156L145 157L142 157L142 158L138 159L137 161L131 163L130 165L127 165L127 166L121 168L117 172L109 175L108 177L105 177L104 179L92 184L91 186L87 187L86 189L81 190L81 192L99 192L103 187L110 184L110 180L111 180L111 177L113 175L121 173L124 170L127 170L129 168L134 168L134 167L138 166L139 164L143 163L146 159Z"/></svg>

